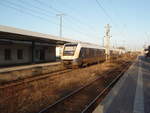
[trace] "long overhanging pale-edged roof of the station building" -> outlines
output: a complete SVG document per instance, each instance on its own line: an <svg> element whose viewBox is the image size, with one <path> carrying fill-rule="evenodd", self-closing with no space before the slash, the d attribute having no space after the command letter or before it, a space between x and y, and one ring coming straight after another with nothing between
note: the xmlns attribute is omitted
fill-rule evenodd
<svg viewBox="0 0 150 113"><path fill-rule="evenodd" d="M55 45L61 45L68 42L77 42L75 40L60 38L49 34L32 32L28 30L0 25L0 40L3 39L17 41L36 41L40 43L50 43Z"/></svg>

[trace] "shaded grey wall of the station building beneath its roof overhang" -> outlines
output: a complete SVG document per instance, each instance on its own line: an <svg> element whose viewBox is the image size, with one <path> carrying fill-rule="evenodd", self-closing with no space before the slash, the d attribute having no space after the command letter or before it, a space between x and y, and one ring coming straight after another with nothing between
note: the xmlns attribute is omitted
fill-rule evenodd
<svg viewBox="0 0 150 113"><path fill-rule="evenodd" d="M5 60L4 51L5 49L11 50L11 60ZM17 58L17 50L23 50L23 59ZM43 50L45 54L45 58L41 60L35 54L36 50ZM32 62L32 45L31 44L10 44L10 45L0 45L0 66L9 66L9 65L18 65L25 63L41 63L41 62L49 62L55 61L56 52L55 46L40 46L35 45L34 51L34 62Z"/></svg>

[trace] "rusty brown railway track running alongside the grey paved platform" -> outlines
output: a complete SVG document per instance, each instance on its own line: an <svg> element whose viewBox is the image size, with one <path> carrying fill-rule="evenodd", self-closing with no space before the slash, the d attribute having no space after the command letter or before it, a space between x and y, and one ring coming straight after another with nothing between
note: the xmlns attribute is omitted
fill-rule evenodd
<svg viewBox="0 0 150 113"><path fill-rule="evenodd" d="M100 101L107 94L128 67L129 63L124 63L121 68L110 70L39 113L90 113L97 105L98 100Z"/></svg>

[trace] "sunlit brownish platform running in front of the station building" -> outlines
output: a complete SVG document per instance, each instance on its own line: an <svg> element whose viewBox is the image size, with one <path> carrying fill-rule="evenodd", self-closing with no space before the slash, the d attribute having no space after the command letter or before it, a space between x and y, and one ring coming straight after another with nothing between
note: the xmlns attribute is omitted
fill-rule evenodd
<svg viewBox="0 0 150 113"><path fill-rule="evenodd" d="M5 67L0 69L0 85L61 70L64 70L64 67L60 61Z"/></svg>

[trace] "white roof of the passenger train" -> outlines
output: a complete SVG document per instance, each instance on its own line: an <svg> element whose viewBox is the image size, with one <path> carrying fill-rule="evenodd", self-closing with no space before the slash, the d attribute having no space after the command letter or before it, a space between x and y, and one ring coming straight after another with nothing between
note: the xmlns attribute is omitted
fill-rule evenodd
<svg viewBox="0 0 150 113"><path fill-rule="evenodd" d="M96 45L96 44L92 44L92 43L66 43L64 45L80 45L81 47L85 47L85 48L95 48L95 49L105 49L102 46Z"/></svg>

